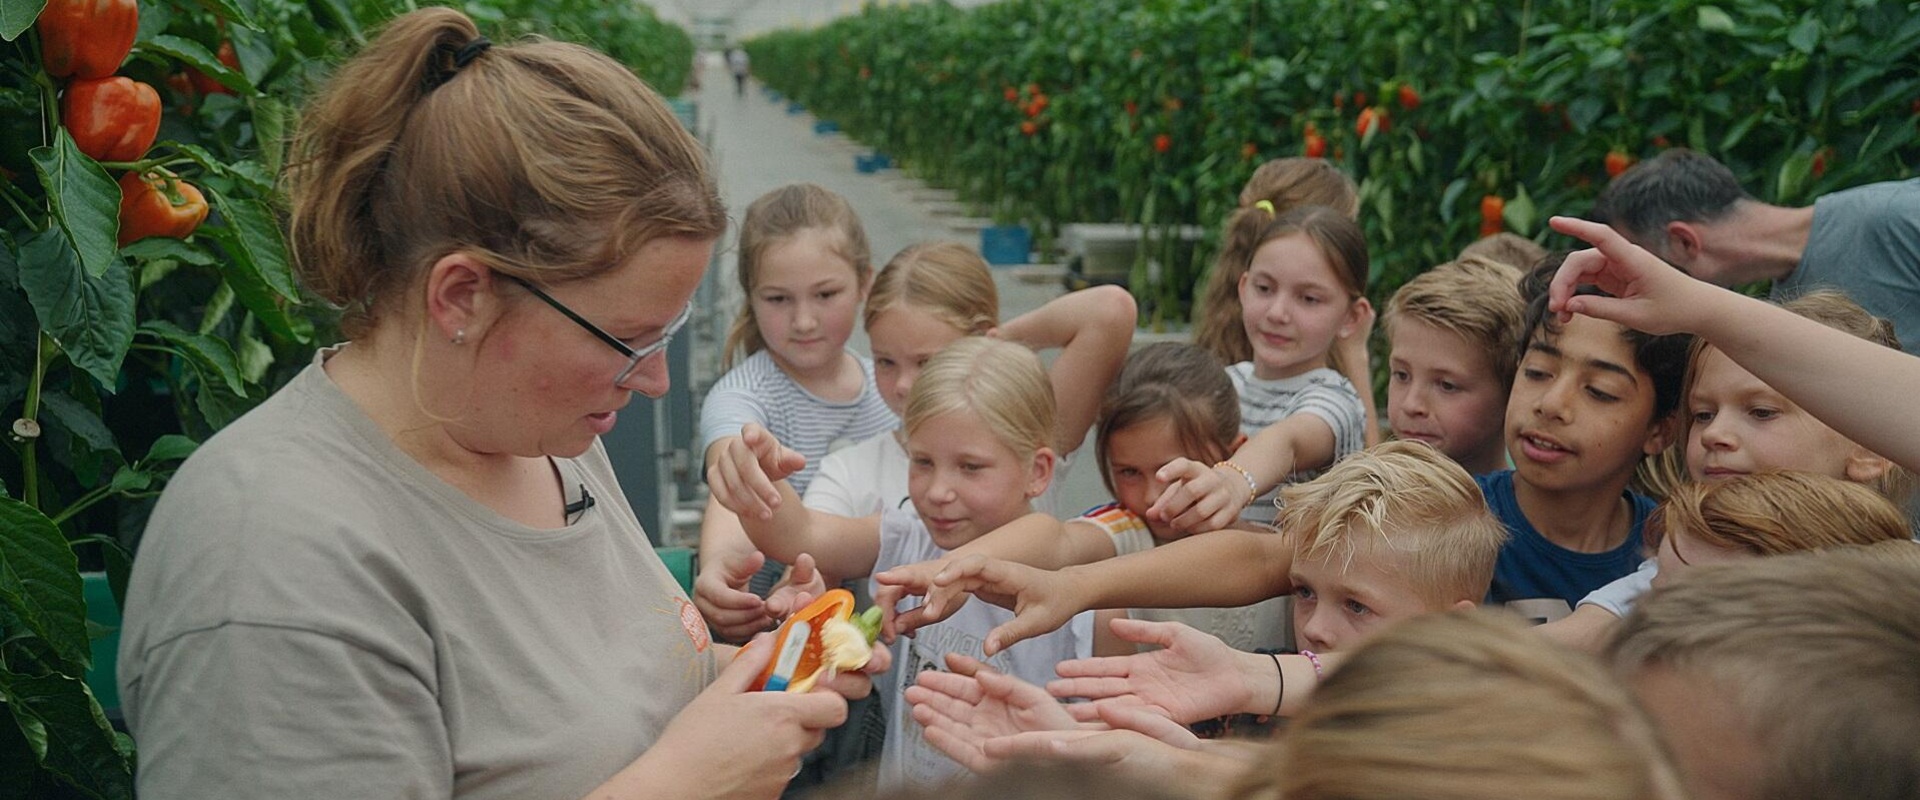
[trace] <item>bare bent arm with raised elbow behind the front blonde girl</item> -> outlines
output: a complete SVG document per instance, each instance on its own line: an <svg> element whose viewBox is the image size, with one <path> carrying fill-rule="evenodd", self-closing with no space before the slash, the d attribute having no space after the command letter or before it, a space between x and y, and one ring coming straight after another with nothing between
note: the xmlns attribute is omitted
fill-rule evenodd
<svg viewBox="0 0 1920 800"><path fill-rule="evenodd" d="M1058 412L1054 451L1079 449L1100 414L1108 384L1127 361L1139 309L1119 286L1094 286L1058 297L1000 326L998 336L1033 349L1060 347L1048 380Z"/></svg>

